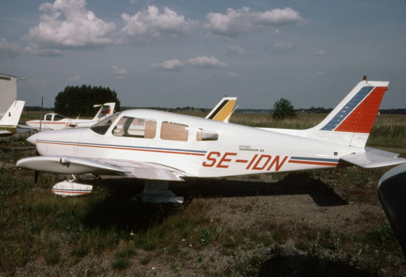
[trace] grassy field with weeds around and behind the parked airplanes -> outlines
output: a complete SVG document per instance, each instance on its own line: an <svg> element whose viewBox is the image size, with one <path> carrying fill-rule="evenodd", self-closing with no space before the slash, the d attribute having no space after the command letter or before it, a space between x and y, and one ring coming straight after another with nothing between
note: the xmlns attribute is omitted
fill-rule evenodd
<svg viewBox="0 0 406 277"><path fill-rule="evenodd" d="M306 129L324 116L299 114L294 120L276 122L268 114L236 113L231 122ZM30 113L29 118L38 118L38 113ZM25 116L23 120L27 119ZM404 115L379 115L368 145L390 148L405 157L405 120ZM185 192L187 203L174 209L129 202L129 197L143 188L142 182L130 179L119 180L120 185L108 179L90 180L102 185L84 197L53 195L50 188L65 176L44 173L34 185L33 172L14 167L22 157L35 155L35 149L29 147L23 138L0 141L0 275L152 276L160 272L173 276L265 276L273 272L284 276L284 268L290 268L295 262L301 265L298 275L300 272L303 275L341 272L336 275L362 276L406 273L406 261L376 195L378 180L388 168L314 170L249 176L244 180L205 180L197 186L211 191L195 190L192 186ZM270 181L259 178L270 178ZM361 207L366 205L362 208L363 217L337 215L331 224L320 226L289 217L261 220L253 208L263 200L259 197L261 189L284 188L290 182L295 182L293 187L304 190L308 185L322 186L323 191L335 191L342 200ZM227 184L241 187L242 192L235 194L239 197L226 196L229 190L221 187ZM257 192L244 192L247 185L256 187ZM255 197L255 193L259 196ZM225 203L228 203L227 211L234 211L229 214L230 218L243 211L254 224L250 227L244 223L226 224L227 218L218 213ZM288 207L286 203L286 209ZM322 207L319 216L327 213L327 208ZM287 260L286 253L291 247L295 249L296 258ZM258 254L261 251L265 254ZM43 268L51 271L43 271Z"/></svg>

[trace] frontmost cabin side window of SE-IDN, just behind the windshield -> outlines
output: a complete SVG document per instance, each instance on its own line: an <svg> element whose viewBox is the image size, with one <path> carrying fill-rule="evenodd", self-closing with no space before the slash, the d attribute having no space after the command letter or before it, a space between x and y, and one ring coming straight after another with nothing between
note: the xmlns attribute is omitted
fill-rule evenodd
<svg viewBox="0 0 406 277"><path fill-rule="evenodd" d="M156 121L145 118L123 116L113 128L113 135L119 137L154 138Z"/></svg>

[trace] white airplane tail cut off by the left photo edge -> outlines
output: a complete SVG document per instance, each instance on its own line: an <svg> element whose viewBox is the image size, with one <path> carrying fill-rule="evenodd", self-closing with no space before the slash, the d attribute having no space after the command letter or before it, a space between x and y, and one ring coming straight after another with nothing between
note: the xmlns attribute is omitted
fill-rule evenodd
<svg viewBox="0 0 406 277"><path fill-rule="evenodd" d="M20 120L25 101L14 100L10 108L0 120L0 137L12 136L17 132L17 124Z"/></svg>

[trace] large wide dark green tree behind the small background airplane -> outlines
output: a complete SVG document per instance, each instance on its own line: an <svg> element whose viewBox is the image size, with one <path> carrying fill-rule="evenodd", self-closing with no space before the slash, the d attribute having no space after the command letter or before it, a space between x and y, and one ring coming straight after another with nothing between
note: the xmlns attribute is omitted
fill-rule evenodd
<svg viewBox="0 0 406 277"><path fill-rule="evenodd" d="M117 93L109 87L67 86L55 97L55 112L65 116L94 116L97 108L93 105L115 102L115 110L120 110Z"/></svg>

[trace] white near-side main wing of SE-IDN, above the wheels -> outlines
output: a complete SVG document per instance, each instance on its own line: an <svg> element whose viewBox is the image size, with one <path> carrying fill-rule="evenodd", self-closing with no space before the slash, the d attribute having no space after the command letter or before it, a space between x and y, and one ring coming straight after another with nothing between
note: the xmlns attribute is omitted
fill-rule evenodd
<svg viewBox="0 0 406 277"><path fill-rule="evenodd" d="M17 167L61 174L125 175L132 178L183 181L185 173L146 162L74 156L35 156L17 162Z"/></svg>

